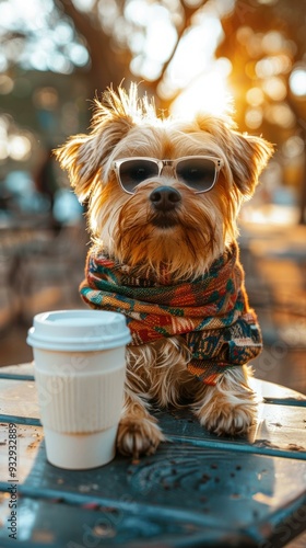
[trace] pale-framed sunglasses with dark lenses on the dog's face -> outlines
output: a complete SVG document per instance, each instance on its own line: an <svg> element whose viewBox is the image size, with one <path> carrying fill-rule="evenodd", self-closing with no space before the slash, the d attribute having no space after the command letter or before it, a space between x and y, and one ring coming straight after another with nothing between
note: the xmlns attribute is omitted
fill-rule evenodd
<svg viewBox="0 0 306 548"><path fill-rule="evenodd" d="M143 181L160 176L164 167L170 167L178 181L200 194L213 187L223 160L210 156L186 156L177 160L140 157L115 160L113 167L119 184L128 194L134 194Z"/></svg>

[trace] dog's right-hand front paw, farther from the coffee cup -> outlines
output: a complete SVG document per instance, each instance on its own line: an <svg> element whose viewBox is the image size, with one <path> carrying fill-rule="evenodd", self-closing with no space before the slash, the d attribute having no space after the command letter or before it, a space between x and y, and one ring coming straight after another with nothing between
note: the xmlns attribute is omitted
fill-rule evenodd
<svg viewBox="0 0 306 548"><path fill-rule="evenodd" d="M256 421L257 397L247 383L248 367L224 373L215 386L202 386L193 411L200 423L217 435L242 435Z"/></svg>

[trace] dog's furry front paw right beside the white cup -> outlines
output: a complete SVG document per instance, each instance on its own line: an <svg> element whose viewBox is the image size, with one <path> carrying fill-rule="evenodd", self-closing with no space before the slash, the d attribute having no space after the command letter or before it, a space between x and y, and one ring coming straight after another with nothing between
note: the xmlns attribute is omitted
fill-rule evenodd
<svg viewBox="0 0 306 548"><path fill-rule="evenodd" d="M117 447L122 455L152 455L165 439L153 418L125 416L119 423Z"/></svg>

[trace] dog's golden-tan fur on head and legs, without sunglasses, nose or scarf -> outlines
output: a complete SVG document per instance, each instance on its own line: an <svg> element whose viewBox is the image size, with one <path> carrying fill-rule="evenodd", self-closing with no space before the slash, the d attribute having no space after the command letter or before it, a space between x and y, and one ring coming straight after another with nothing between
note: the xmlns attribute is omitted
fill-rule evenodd
<svg viewBox="0 0 306 548"><path fill-rule="evenodd" d="M236 218L249 198L258 175L272 153L260 137L242 135L229 117L198 115L193 122L158 118L153 102L139 99L137 85L108 90L95 100L90 135L76 135L56 151L80 201L87 201L93 240L121 263L150 266L156 276L166 264L172 279L203 274L236 239ZM192 190L164 168L160 178L141 183L134 195L117 182L111 162L118 158L176 159L210 155L223 159L215 186L207 193ZM152 222L152 190L168 185L181 203L172 212L168 228ZM187 370L190 355L177 336L128 349L126 399L118 432L122 454L150 454L164 439L150 414L149 400L179 406L192 399L200 423L216 434L245 433L256 418L256 398L248 386L247 365L226 370L215 386L201 384Z"/></svg>

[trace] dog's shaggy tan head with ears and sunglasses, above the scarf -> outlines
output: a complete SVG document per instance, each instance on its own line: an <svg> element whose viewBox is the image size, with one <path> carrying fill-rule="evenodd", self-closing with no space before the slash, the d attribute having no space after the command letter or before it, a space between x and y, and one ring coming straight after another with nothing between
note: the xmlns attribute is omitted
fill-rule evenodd
<svg viewBox="0 0 306 548"><path fill-rule="evenodd" d="M89 199L95 240L157 275L165 266L175 278L202 274L235 238L239 206L272 146L228 118L160 119L134 85L95 103L91 134L56 152L80 201Z"/></svg>

